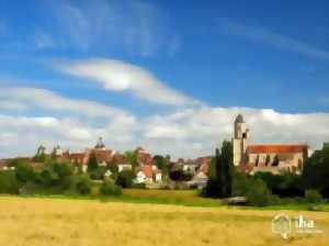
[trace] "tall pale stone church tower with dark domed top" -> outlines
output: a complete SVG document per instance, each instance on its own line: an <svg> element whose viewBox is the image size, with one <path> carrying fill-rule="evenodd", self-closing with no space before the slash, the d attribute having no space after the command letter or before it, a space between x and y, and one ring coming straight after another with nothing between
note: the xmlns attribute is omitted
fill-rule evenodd
<svg viewBox="0 0 329 246"><path fill-rule="evenodd" d="M235 121L235 135L232 138L235 166L246 163L246 150L249 137L249 128L247 128L247 124L243 121L242 115L239 114Z"/></svg>

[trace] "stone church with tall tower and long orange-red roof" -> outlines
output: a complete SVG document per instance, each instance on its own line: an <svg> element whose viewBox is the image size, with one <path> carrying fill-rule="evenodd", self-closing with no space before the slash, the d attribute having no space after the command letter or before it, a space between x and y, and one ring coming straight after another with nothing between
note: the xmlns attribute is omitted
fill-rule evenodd
<svg viewBox="0 0 329 246"><path fill-rule="evenodd" d="M251 144L250 131L239 114L234 125L234 165L243 172L300 174L308 155L306 144Z"/></svg>

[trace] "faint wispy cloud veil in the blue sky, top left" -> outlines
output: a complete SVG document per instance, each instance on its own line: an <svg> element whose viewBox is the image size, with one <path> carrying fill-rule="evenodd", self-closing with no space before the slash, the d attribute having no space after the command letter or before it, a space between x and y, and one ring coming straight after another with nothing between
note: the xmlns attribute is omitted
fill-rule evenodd
<svg viewBox="0 0 329 246"><path fill-rule="evenodd" d="M120 47L143 56L158 52L173 54L179 49L178 34L170 29L166 14L151 2L58 0L48 1L48 11L61 34L58 38L79 49Z"/></svg>

